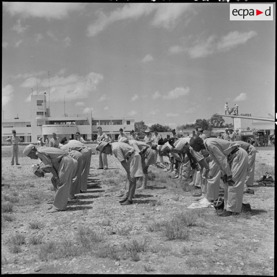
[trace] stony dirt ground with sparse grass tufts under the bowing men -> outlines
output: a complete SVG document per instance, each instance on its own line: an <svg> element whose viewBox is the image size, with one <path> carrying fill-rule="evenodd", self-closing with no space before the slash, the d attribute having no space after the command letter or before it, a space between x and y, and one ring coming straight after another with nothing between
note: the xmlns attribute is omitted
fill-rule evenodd
<svg viewBox="0 0 277 277"><path fill-rule="evenodd" d="M220 217L212 207L189 209L197 203L195 190L150 167L149 188L136 191L134 205L121 206L124 169L108 156L109 169L97 170L98 155L92 155L87 193L69 200L66 211L46 213L47 200L54 196L51 174L36 177L31 171L36 161L28 157L20 156L20 165L11 166L7 149L2 147L1 159L1 274L274 276L274 184L255 183L254 194L244 194L251 212ZM255 179L266 171L275 179L275 147L257 150ZM10 212L3 210L7 202L13 206ZM194 218L194 224L181 230L187 232L183 238L170 239L158 222L173 222L180 212ZM103 238L84 251L80 230L87 228ZM17 248L15 237L23 238ZM31 243L34 237L40 238L37 244ZM64 250L54 255L51 242ZM144 247L137 245L136 252L135 242ZM104 253L111 249L112 255Z"/></svg>

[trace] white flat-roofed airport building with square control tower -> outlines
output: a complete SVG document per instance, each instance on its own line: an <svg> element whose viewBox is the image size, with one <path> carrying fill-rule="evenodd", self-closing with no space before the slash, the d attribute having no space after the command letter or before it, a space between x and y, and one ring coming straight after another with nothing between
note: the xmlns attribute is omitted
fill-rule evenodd
<svg viewBox="0 0 277 277"><path fill-rule="evenodd" d="M50 117L50 109L47 108L46 95L31 95L31 117L30 119L2 119L1 141L12 136L12 130L23 142L36 143L41 136L52 138L56 133L59 138L75 139L79 132L85 140L97 138L97 127L101 126L103 132L117 140L122 128L126 134L135 130L135 119L133 118L91 118L87 116L62 116Z"/></svg>

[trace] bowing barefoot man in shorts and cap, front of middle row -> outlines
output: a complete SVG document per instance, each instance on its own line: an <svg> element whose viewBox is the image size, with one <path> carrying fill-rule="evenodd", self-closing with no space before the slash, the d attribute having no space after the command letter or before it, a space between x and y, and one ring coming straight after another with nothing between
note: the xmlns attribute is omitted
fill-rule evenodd
<svg viewBox="0 0 277 277"><path fill-rule="evenodd" d="M143 177L143 170L141 165L141 157L136 150L129 144L124 142L105 142L102 141L96 147L97 151L105 154L114 154L120 161L127 173L127 179L130 186L128 190L128 197L121 200L121 205L132 205L133 197L136 191L137 179Z"/></svg>

